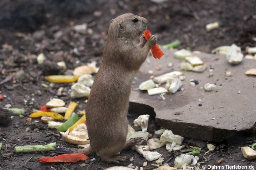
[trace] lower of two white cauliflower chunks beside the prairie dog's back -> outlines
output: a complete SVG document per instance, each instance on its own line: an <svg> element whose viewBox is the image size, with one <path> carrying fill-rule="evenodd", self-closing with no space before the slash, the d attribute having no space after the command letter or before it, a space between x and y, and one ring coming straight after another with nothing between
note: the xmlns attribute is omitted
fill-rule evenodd
<svg viewBox="0 0 256 170"><path fill-rule="evenodd" d="M91 89L85 85L80 83L75 83L71 86L71 98L79 98L79 97L89 97Z"/></svg>

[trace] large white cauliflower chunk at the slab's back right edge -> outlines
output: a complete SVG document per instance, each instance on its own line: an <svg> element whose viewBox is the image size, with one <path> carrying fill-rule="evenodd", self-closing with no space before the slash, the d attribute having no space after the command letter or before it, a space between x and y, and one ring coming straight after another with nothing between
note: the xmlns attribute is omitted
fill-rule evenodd
<svg viewBox="0 0 256 170"><path fill-rule="evenodd" d="M228 50L226 58L230 64L238 64L243 60L244 55L241 53L241 48L232 44Z"/></svg>

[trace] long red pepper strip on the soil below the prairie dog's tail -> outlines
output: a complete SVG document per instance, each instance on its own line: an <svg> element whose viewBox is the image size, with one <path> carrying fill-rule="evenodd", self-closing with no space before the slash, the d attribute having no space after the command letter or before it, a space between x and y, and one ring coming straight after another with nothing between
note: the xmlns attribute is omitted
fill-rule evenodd
<svg viewBox="0 0 256 170"><path fill-rule="evenodd" d="M42 162L78 162L79 160L87 160L90 159L88 156L82 153L70 153L70 154L63 154L53 157L45 157L38 159Z"/></svg>

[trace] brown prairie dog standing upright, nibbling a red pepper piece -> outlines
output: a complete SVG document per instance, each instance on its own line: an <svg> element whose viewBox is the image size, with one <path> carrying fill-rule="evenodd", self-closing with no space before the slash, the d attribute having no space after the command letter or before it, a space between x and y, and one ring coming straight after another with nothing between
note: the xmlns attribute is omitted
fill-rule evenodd
<svg viewBox="0 0 256 170"><path fill-rule="evenodd" d="M138 18L138 22L133 22ZM111 20L103 59L97 73L86 107L86 120L90 147L80 152L98 152L107 162L124 161L123 156L113 157L124 147L127 136L127 110L132 81L135 73L145 61L149 49L156 44L156 36L147 42L142 35L148 20L131 13Z"/></svg>

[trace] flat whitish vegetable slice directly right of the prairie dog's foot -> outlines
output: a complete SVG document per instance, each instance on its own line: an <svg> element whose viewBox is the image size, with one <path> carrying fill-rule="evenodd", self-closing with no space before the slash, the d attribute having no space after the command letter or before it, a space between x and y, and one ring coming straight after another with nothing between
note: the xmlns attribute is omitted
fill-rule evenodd
<svg viewBox="0 0 256 170"><path fill-rule="evenodd" d="M158 152L151 152L151 151L143 151L143 149L149 149L149 147L146 145L146 146L143 146L143 145L135 145L134 146L135 150L137 152L139 152L140 154L142 154L142 156L147 159L148 161L152 161L152 160L156 160L158 158L161 158L162 155Z"/></svg>

